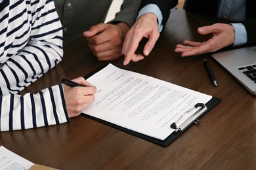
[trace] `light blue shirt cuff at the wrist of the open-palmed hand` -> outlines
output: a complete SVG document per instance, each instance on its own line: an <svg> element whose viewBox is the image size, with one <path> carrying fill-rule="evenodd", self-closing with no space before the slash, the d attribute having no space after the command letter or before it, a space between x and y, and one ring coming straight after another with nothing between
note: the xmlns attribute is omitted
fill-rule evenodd
<svg viewBox="0 0 256 170"><path fill-rule="evenodd" d="M247 42L247 32L243 24L232 23L235 31L235 41L233 46L240 46Z"/></svg>

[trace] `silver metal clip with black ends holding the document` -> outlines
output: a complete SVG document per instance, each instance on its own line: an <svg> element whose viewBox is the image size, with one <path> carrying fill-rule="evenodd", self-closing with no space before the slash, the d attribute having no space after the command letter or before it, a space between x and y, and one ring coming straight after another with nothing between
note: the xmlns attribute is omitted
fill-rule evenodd
<svg viewBox="0 0 256 170"><path fill-rule="evenodd" d="M203 114L203 112L205 112L207 110L207 107L205 106L205 104L203 103L197 103L192 109L186 111L184 114L188 113L188 112L192 112L191 116L189 118L187 118L182 124L181 126L177 127L177 122L173 122L173 124L171 124L171 128L175 129L175 131L183 131L184 129L186 129L186 127L188 127L190 124L194 123L197 124L199 122L199 118L200 116ZM183 114L183 115L184 115ZM178 120L179 122L179 120Z"/></svg>

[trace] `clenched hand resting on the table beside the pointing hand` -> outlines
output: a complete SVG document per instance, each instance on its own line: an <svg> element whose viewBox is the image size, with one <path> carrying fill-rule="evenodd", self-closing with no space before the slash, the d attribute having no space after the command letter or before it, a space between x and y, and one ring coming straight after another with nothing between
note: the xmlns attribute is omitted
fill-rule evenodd
<svg viewBox="0 0 256 170"><path fill-rule="evenodd" d="M121 56L121 48L129 25L119 24L97 24L85 31L83 36L87 37L89 48L99 61L114 60Z"/></svg>

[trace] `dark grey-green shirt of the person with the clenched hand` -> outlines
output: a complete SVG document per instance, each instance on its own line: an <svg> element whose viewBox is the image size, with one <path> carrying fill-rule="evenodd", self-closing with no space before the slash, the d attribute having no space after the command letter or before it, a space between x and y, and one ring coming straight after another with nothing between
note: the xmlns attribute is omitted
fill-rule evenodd
<svg viewBox="0 0 256 170"><path fill-rule="evenodd" d="M83 36L91 26L104 22L112 0L54 0L63 27L64 45ZM121 10L110 23L125 22L132 26L140 0L124 0Z"/></svg>

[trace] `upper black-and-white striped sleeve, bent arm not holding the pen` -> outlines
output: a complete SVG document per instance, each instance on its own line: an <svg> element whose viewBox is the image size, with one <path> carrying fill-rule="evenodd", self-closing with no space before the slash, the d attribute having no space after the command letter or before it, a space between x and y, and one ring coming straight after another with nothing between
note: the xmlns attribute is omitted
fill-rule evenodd
<svg viewBox="0 0 256 170"><path fill-rule="evenodd" d="M11 14L12 10L23 9L19 3L11 7ZM12 31L7 32L5 43L10 45L5 46L7 61L0 70L0 79L5 80L1 82L3 92L20 92L59 63L63 56L62 25L53 1L26 1L26 9L22 11L7 18L7 29Z"/></svg>

